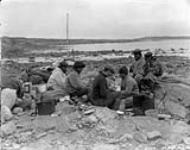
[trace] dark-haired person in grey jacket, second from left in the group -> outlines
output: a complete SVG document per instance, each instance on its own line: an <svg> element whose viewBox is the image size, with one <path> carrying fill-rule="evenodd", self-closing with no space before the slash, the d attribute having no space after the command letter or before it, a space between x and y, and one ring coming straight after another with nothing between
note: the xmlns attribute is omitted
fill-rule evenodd
<svg viewBox="0 0 190 150"><path fill-rule="evenodd" d="M83 96L88 94L88 88L82 82L81 72L85 68L85 64L76 61L73 65L73 71L67 76L65 81L65 91L71 96Z"/></svg>

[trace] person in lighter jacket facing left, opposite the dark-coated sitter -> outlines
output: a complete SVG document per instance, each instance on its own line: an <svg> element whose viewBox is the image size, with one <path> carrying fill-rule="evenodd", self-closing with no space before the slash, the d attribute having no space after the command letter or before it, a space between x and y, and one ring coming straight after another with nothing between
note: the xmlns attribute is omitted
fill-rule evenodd
<svg viewBox="0 0 190 150"><path fill-rule="evenodd" d="M121 97L119 111L124 112L127 103L133 103L133 97L139 95L139 88L136 80L128 74L127 67L119 69L121 77Z"/></svg>

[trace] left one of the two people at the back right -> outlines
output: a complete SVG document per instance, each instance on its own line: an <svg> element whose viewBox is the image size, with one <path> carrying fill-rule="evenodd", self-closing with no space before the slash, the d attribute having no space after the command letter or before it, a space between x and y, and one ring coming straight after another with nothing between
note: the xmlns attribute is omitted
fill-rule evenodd
<svg viewBox="0 0 190 150"><path fill-rule="evenodd" d="M133 55L134 55L135 61L130 67L130 72L132 72L133 78L135 78L135 80L139 84L144 74L143 66L145 64L145 60L142 57L141 50L139 49L134 50Z"/></svg>

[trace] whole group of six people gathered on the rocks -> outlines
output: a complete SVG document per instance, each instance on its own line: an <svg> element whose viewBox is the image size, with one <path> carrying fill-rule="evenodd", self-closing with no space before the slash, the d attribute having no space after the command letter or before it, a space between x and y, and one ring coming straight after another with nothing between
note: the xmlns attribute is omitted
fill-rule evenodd
<svg viewBox="0 0 190 150"><path fill-rule="evenodd" d="M132 101L135 114L143 115L146 110L154 108L152 88L155 86L155 79L162 74L159 74L159 71L162 72L162 70L159 63L155 63L151 52L146 53L144 58L140 50L134 51L133 54L135 62L130 69L128 70L127 66L119 68L120 91L108 86L107 78L115 74L111 66L105 66L100 70L90 87L83 84L81 72L85 64L82 61L76 61L69 73L67 73L69 65L62 61L52 72L47 88L49 91L57 92L60 97L70 95L72 98L86 95L87 101L92 105L108 107L121 112L125 111L126 102Z"/></svg>

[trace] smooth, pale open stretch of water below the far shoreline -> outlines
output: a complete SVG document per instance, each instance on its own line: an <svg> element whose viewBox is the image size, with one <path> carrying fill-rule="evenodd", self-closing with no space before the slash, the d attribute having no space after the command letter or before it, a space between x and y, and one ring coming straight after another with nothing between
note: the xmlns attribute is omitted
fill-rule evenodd
<svg viewBox="0 0 190 150"><path fill-rule="evenodd" d="M139 49L190 49L190 40L160 40L160 41L144 41L130 43L105 43L105 44L80 44L72 45L70 48L77 51L101 51L101 50L123 50L130 51L136 48Z"/></svg>

